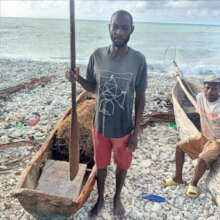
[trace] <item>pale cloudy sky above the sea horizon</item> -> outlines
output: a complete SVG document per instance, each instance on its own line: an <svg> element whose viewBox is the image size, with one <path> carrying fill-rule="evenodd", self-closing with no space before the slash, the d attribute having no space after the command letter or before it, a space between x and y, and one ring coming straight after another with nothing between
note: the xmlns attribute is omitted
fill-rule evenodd
<svg viewBox="0 0 220 220"><path fill-rule="evenodd" d="M109 20L118 9L134 21L220 25L220 0L75 0L77 19ZM69 18L69 0L0 0L0 16Z"/></svg>

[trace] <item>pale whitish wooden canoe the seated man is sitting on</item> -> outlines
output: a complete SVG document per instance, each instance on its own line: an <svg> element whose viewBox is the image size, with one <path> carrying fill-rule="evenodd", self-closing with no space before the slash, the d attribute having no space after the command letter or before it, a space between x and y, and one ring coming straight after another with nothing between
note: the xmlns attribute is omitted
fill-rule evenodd
<svg viewBox="0 0 220 220"><path fill-rule="evenodd" d="M200 131L200 118L196 113L195 96L190 97L190 99L194 99L194 104L192 104L183 90L183 86L186 85L184 81L186 80L177 77L177 83L172 90L172 100L177 130L180 139L184 140ZM190 90L194 94L201 91L201 88L189 81L187 81L187 85L190 86ZM207 190L212 194L213 201L220 206L220 158L211 165L205 183Z"/></svg>

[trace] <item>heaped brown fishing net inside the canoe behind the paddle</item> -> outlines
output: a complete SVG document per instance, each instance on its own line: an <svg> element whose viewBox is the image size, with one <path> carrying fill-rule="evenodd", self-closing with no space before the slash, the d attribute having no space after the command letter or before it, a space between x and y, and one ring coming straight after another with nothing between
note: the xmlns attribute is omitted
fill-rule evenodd
<svg viewBox="0 0 220 220"><path fill-rule="evenodd" d="M79 125L79 149L80 149L80 163L93 162L93 143L91 126L93 115L95 112L95 99L87 99L82 101L77 107L77 119ZM59 152L62 159L68 160L68 146L70 137L71 115L67 116L60 124L56 133L56 140L53 144L53 149ZM59 158L57 158L59 159Z"/></svg>

